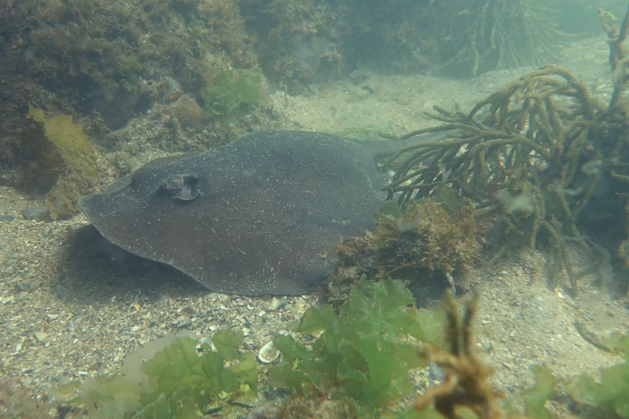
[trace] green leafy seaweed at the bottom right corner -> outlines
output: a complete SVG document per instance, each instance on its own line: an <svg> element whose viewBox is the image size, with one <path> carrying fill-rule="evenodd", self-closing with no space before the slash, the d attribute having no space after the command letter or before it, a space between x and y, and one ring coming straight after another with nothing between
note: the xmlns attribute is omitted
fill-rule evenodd
<svg viewBox="0 0 629 419"><path fill-rule="evenodd" d="M569 395L581 403L596 406L600 417L629 418L629 336L620 332L604 339L606 346L618 353L623 364L601 369L599 382L582 375L565 385Z"/></svg>

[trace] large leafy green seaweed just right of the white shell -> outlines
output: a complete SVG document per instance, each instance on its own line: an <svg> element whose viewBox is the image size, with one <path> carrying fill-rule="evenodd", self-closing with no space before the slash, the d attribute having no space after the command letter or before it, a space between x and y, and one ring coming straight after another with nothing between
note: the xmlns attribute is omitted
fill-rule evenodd
<svg viewBox="0 0 629 419"><path fill-rule="evenodd" d="M443 313L415 309L401 281L362 278L339 314L331 305L306 310L296 331L323 331L312 350L290 335L273 340L285 362L269 371L269 379L301 393L330 391L358 417L369 418L408 395L408 370L425 365L408 336L440 345L444 325Z"/></svg>

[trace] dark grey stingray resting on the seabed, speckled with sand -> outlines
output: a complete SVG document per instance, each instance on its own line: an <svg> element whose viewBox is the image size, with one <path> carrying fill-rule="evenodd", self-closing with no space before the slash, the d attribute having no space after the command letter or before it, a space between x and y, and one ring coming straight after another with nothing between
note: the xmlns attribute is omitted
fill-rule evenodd
<svg viewBox="0 0 629 419"><path fill-rule="evenodd" d="M337 244L376 227L386 193L374 157L401 145L259 131L149 161L79 207L113 244L209 290L303 294L330 268Z"/></svg>

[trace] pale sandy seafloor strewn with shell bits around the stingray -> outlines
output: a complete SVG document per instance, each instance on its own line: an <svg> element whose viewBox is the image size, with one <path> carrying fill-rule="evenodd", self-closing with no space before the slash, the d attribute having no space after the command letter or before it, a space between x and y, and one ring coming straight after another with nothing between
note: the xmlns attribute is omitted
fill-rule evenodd
<svg viewBox="0 0 629 419"><path fill-rule="evenodd" d="M607 101L607 55L603 38L583 40L566 48L558 64ZM434 124L422 113L433 105L452 109L457 102L469 110L528 70L490 72L473 80L370 75L361 84L339 80L313 94L290 97L286 108L283 94L270 100L289 121L287 128L335 132L372 123L405 133ZM257 353L276 334L287 332L287 322L318 304L315 295L288 297L285 307L271 311L271 297L211 293L174 269L105 246L83 214L56 222L20 215L40 205L41 196L0 187L0 214L14 217L0 222L0 376L17 378L38 398L62 380L113 373L127 352L181 329L201 337L219 329L242 330L242 348ZM585 264L572 250L574 263ZM545 364L562 381L621 361L585 340L574 323L579 320L598 336L629 332L628 278L616 273L606 286L595 275L581 278L581 295L572 298L565 276L556 290L548 285L551 260L543 250L507 254L491 268L479 264L467 277L468 290L481 295L479 352L496 370L496 388L507 394L533 383L532 364ZM264 381L264 374L260 377ZM417 393L425 374L413 378ZM558 392L551 403L565 413L569 401ZM225 417L246 414L247 408L233 406L221 412Z"/></svg>

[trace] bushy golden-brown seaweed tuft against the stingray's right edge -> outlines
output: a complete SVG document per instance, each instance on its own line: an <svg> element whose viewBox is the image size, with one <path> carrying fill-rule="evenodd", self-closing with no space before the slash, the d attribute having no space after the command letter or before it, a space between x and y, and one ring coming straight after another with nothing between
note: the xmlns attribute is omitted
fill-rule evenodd
<svg viewBox="0 0 629 419"><path fill-rule="evenodd" d="M442 185L430 199L408 202L404 211L388 200L374 219L375 231L350 237L337 246L339 261L328 275L328 297L343 300L348 285L367 275L379 280L392 276L408 281L411 289L438 281L454 286L452 274L464 277L479 258L479 224L474 206Z"/></svg>

